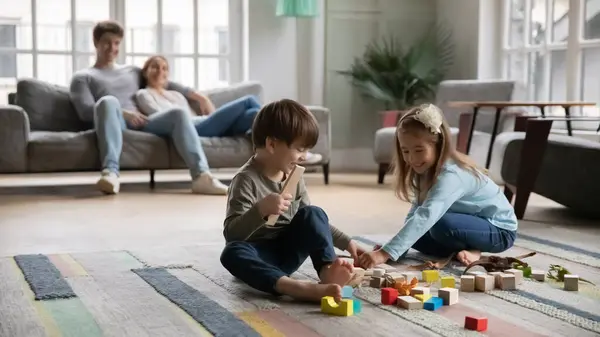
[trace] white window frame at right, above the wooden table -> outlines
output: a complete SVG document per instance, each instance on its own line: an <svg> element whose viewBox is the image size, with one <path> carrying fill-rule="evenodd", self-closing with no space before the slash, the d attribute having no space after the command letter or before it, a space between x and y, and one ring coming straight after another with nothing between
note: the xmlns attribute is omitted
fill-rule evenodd
<svg viewBox="0 0 600 337"><path fill-rule="evenodd" d="M563 93L565 100L567 101L583 101L583 52L591 48L600 48L600 39L585 40L583 36L583 25L585 23L585 4L587 0L569 0L569 9L567 11L568 28L567 28L567 39L564 42L553 42L553 14L554 14L554 0L545 0L546 5L546 31L550 34L545 34L544 41L539 45L532 45L531 39L531 8L534 0L523 0L525 3L525 18L524 18L524 32L522 45L511 46L510 45L510 34L511 34L511 5L512 1L504 1L502 10L502 77L504 79L511 79L509 74L509 60L512 55L524 56L524 67L522 78L517 79L520 83L524 84L527 91L526 100L549 100L552 99L552 63L551 55L555 51L565 51L565 82ZM533 85L529 83L527 78L530 76L530 62L529 57L533 53L541 53L544 57L544 69L543 69L543 94L542 97L535 99L532 97L532 93L535 92ZM589 100L587 100L589 101ZM598 104L596 102L597 113L594 116L600 114L598 110ZM572 115L581 114L579 108L572 109ZM535 111L537 112L537 111ZM563 112L560 112L561 114ZM554 123L554 127L558 129L566 128L565 123ZM597 123L590 122L574 122L573 129L575 130L590 130L596 129Z"/></svg>

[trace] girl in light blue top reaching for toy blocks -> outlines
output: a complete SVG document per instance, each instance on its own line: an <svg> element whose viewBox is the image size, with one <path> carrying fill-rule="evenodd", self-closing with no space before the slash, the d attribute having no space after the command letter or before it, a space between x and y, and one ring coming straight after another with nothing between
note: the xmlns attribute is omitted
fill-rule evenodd
<svg viewBox="0 0 600 337"><path fill-rule="evenodd" d="M409 248L468 265L481 252L512 247L517 218L500 188L451 144L441 110L431 104L398 121L395 190L412 202L404 227L383 247L359 257L364 268L398 260Z"/></svg>

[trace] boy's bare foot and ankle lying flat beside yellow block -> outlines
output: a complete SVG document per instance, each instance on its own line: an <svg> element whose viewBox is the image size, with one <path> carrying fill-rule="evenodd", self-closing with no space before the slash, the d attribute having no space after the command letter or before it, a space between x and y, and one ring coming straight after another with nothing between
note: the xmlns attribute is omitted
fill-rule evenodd
<svg viewBox="0 0 600 337"><path fill-rule="evenodd" d="M333 297L336 302L342 300L342 287L337 284L312 283L287 276L277 281L275 290L297 300L319 302L325 296Z"/></svg>

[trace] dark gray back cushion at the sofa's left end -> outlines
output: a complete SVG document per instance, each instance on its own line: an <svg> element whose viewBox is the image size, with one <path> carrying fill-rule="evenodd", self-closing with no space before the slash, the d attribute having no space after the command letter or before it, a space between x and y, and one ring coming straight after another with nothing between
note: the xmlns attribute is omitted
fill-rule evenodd
<svg viewBox="0 0 600 337"><path fill-rule="evenodd" d="M78 132L90 128L77 116L65 87L22 79L17 83L15 103L27 113L32 131Z"/></svg>

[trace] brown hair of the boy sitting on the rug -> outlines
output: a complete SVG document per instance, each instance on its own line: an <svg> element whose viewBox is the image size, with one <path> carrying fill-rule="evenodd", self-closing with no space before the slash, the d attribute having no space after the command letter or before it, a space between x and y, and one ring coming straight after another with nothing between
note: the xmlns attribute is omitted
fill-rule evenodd
<svg viewBox="0 0 600 337"><path fill-rule="evenodd" d="M282 99L266 104L260 109L252 124L254 148L264 148L267 138L283 141L287 146L300 142L307 149L319 139L319 124L313 114L302 104Z"/></svg>

